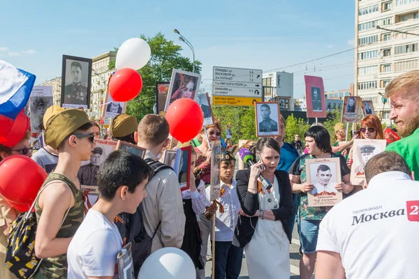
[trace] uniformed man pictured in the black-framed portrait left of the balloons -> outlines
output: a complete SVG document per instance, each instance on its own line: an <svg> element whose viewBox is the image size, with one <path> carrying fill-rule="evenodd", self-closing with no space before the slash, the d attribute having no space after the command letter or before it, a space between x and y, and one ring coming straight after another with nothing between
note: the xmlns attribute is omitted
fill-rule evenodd
<svg viewBox="0 0 419 279"><path fill-rule="evenodd" d="M72 82L64 88L64 103L87 105L87 86L81 83L82 77L82 64L78 61L71 62Z"/></svg>

